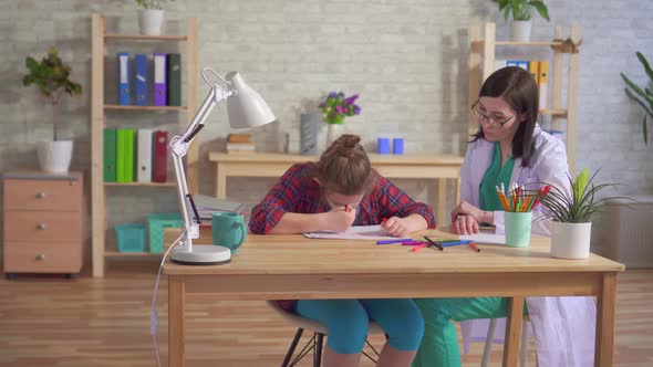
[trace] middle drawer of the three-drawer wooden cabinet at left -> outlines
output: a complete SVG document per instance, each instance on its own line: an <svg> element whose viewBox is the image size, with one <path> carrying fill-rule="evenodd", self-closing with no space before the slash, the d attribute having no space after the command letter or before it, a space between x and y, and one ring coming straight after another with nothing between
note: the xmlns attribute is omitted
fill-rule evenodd
<svg viewBox="0 0 653 367"><path fill-rule="evenodd" d="M80 242L82 214L72 211L6 211L4 240L9 242Z"/></svg>

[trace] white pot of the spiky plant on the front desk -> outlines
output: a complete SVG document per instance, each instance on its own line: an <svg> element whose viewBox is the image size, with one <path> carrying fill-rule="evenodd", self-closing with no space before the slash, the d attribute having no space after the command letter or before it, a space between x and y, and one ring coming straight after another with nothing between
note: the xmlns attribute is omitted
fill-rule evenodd
<svg viewBox="0 0 653 367"><path fill-rule="evenodd" d="M551 222L551 256L587 259L590 255L592 222Z"/></svg>

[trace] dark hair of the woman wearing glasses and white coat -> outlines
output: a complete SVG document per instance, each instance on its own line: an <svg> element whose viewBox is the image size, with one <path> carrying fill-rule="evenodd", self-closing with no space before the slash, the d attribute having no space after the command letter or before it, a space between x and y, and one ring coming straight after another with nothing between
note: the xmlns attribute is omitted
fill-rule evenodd
<svg viewBox="0 0 653 367"><path fill-rule="evenodd" d="M539 109L538 87L530 72L517 66L499 69L483 83L478 97L501 97L517 113L515 118L521 120L512 139L512 157L521 157L521 166L528 166L535 151L532 132ZM483 128L473 136L471 141L485 138Z"/></svg>

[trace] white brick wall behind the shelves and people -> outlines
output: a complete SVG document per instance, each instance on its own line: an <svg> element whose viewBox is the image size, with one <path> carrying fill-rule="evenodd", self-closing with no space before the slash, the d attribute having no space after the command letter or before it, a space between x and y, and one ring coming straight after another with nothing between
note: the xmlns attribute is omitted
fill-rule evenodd
<svg viewBox="0 0 653 367"><path fill-rule="evenodd" d="M640 50L653 61L649 17L653 3L548 3L554 23L578 21L582 27L578 166L601 168L599 181L626 184L623 192L652 192L653 144L642 143L642 113L624 96L619 72L644 80L634 52ZM75 140L73 168L90 168L92 12L110 15L110 28L116 31L137 29L131 1L0 2L0 170L35 168L34 143L51 134L49 108L33 87L21 85L21 78L24 57L38 56L53 44L84 88L81 99L63 102L61 135ZM281 123L256 133L260 148L267 150L276 149L272 141L284 132L290 133L290 149L297 150L299 114L314 109L329 91L344 91L361 95L363 111L348 118L342 130L361 134L367 148L374 149L379 136L388 136L404 137L407 153L462 153L468 108L467 27L495 20L499 35L506 33L494 3L483 0L177 0L169 4L167 17L170 30L182 32L179 20L197 17L200 67L239 70L269 102ZM549 39L552 25L536 18L535 38ZM149 52L147 48L125 44L123 49ZM110 54L117 51L112 48ZM107 95L111 91L107 87ZM200 98L206 91L200 84ZM199 136L204 153L219 146L229 133L224 109L214 111ZM156 117L167 123L175 118ZM144 114L112 113L110 119L110 124L153 123ZM320 140L324 135L323 130ZM213 167L204 162L201 169L201 190L213 192ZM232 180L229 195L256 202L272 182ZM423 185L401 184L424 198ZM152 210L176 210L175 198L173 189L134 189L125 195L112 188L112 222L143 219Z"/></svg>

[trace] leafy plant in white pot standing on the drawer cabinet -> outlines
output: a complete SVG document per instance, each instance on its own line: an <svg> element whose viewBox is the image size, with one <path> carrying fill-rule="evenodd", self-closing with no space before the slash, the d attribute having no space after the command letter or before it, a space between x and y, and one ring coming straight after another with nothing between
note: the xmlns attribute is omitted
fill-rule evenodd
<svg viewBox="0 0 653 367"><path fill-rule="evenodd" d="M37 62L28 56L25 65L29 73L23 77L23 85L37 85L39 91L52 107L52 138L53 140L40 141L38 146L39 164L41 169L52 174L65 174L70 167L73 141L59 140L56 132L59 102L64 94L79 97L82 95L82 86L70 80L71 69L64 65L59 57L55 48L50 48L48 54Z"/></svg>

